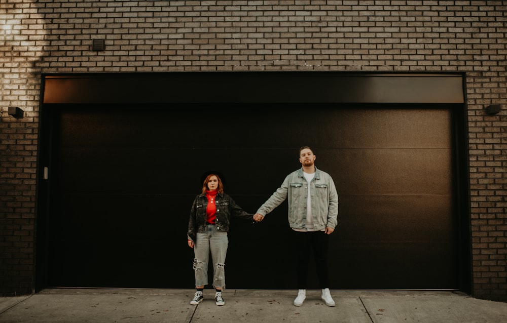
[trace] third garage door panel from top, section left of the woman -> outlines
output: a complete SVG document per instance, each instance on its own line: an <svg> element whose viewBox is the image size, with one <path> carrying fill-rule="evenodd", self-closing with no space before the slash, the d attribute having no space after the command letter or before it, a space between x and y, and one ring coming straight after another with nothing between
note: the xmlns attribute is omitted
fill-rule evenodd
<svg viewBox="0 0 507 323"><path fill-rule="evenodd" d="M194 197L63 194L59 217L54 218L55 236L65 240L164 240L170 245L186 237ZM174 231L180 234L170 234Z"/></svg>

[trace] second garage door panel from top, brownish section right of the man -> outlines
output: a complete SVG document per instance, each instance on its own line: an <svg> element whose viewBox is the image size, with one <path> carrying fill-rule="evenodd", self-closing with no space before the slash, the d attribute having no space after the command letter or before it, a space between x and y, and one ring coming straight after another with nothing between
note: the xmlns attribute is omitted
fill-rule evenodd
<svg viewBox="0 0 507 323"><path fill-rule="evenodd" d="M327 149L315 165L330 170L339 192L451 194L450 149Z"/></svg>

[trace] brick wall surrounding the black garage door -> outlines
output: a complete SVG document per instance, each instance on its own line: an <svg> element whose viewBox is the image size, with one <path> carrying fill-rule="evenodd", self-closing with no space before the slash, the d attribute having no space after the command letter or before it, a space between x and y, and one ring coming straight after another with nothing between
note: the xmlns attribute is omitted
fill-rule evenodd
<svg viewBox="0 0 507 323"><path fill-rule="evenodd" d="M33 291L40 74L466 72L473 296L507 301L503 1L0 0L0 293ZM105 51L91 51L104 39ZM500 104L487 115L484 107ZM25 117L8 115L18 106Z"/></svg>

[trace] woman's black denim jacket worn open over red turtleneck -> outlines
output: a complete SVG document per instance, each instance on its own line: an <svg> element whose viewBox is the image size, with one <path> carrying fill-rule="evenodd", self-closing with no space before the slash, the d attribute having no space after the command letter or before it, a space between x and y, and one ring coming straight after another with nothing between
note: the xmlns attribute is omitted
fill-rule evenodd
<svg viewBox="0 0 507 323"><path fill-rule="evenodd" d="M253 214L243 211L226 193L216 194L216 229L219 231L229 231L231 223L231 215L244 219L253 218ZM208 199L205 194L199 194L195 197L190 210L189 228L187 232L188 238L195 241L197 232L204 232L206 230L206 206Z"/></svg>

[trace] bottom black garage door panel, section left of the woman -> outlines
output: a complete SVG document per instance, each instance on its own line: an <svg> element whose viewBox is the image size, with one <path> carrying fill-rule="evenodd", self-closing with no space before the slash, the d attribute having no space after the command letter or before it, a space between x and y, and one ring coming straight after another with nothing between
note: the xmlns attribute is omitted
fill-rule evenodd
<svg viewBox="0 0 507 323"><path fill-rule="evenodd" d="M52 286L189 288L188 282L194 279L193 254L174 259L160 241L61 240L53 250L55 255L73 256L53 259ZM178 272L177 279L170 274L174 272Z"/></svg>

